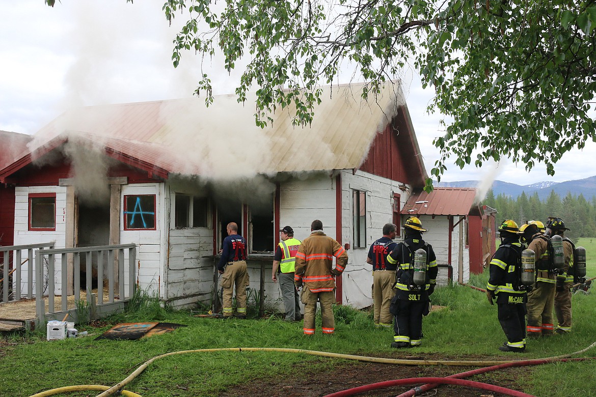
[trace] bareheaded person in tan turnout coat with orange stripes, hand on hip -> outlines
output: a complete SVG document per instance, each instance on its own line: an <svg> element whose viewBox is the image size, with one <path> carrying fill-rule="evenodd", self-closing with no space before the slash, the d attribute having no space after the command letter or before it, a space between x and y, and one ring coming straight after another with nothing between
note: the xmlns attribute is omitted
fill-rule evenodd
<svg viewBox="0 0 596 397"><path fill-rule="evenodd" d="M333 268L333 257L336 267ZM316 301L321 302L321 329L324 335L335 332L331 306L335 302L335 276L340 276L347 264L347 254L339 243L323 233L323 223L312 221L311 235L306 237L296 253L294 282L304 289L300 299L304 304L304 334L315 335Z"/></svg>

